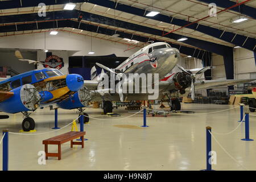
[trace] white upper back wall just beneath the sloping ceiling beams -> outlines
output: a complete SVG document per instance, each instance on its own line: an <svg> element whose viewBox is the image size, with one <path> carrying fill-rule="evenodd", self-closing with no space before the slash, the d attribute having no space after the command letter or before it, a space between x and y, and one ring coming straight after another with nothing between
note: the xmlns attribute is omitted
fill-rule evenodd
<svg viewBox="0 0 256 182"><path fill-rule="evenodd" d="M49 35L46 32L46 49L77 51L74 56L89 56L90 36L61 32L57 35ZM0 48L44 49L45 33L28 35L7 36L0 39ZM92 49L96 52L93 56L110 55L129 57L139 48L125 51L128 47L124 44L107 40L92 38Z"/></svg>

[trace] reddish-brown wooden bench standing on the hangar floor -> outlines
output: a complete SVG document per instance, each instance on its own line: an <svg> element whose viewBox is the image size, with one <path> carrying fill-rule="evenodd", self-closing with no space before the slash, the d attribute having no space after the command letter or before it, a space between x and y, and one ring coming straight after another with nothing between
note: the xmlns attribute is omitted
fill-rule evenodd
<svg viewBox="0 0 256 182"><path fill-rule="evenodd" d="M48 157L58 157L61 159L61 144L71 141L71 148L73 148L74 144L81 145L84 148L84 135L85 131L70 131L68 133L64 133L58 135L56 137L52 137L46 140L43 140L44 144L44 151L46 152L46 159ZM73 142L73 139L81 137L81 142ZM49 153L48 152L48 144L57 144L58 145L58 152L57 153Z"/></svg>

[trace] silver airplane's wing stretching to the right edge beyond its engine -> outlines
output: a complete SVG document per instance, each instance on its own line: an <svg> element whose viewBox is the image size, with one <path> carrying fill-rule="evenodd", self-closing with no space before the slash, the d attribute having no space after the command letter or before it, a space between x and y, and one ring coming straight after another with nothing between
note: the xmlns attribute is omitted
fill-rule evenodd
<svg viewBox="0 0 256 182"><path fill-rule="evenodd" d="M236 85L241 84L244 82L250 82L254 81L255 79L241 79L241 80L204 80L204 81L196 81L195 82L195 90L201 90L201 89L212 89L216 88L218 86L230 86L230 85ZM190 88L185 89L186 91L189 91Z"/></svg>

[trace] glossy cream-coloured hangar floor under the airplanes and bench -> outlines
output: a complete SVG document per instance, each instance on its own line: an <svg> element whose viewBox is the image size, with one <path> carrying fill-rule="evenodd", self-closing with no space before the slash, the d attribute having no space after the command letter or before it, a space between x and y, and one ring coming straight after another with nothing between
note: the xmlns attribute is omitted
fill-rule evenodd
<svg viewBox="0 0 256 182"><path fill-rule="evenodd" d="M153 106L159 109L159 106ZM183 110L207 113L224 110L234 106L212 104L182 104ZM247 109L246 109L247 110ZM101 115L100 109L86 109L90 117L110 119L99 121L90 119L85 125L87 141L85 148L70 148L62 145L62 159L49 158L46 165L38 164L38 152L44 150L42 140L71 130L63 130L44 135L9 136L10 170L200 170L205 169L205 126L212 131L228 133L237 127L240 109L222 113L203 115L171 115L165 117L147 117L147 125L142 128L142 113L127 119L124 107L114 110L121 117ZM39 109L31 115L36 121L36 133L52 131L54 111ZM63 127L77 118L75 110L59 109L59 126ZM19 132L22 114L11 114L9 119L0 121L0 129ZM79 125L78 125L79 127ZM245 142L244 123L229 135L215 135L218 142L246 169L256 169L256 141ZM256 139L256 117L250 117L250 138ZM218 146L212 143L212 150L217 152L216 170L245 170L234 162ZM2 145L0 147L0 166L2 166ZM56 152L57 146L49 146L50 152ZM0 167L1 168L1 167Z"/></svg>

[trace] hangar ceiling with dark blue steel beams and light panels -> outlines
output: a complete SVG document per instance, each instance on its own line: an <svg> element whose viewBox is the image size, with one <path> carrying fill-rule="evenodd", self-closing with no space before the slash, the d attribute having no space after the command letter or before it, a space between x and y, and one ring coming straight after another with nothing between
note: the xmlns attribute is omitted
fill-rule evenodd
<svg viewBox="0 0 256 182"><path fill-rule="evenodd" d="M46 17L37 15L40 2L47 5ZM76 3L75 10L63 10L68 2ZM217 17L205 18L208 16L209 2L218 5L217 12L222 11ZM239 6L237 3L240 3ZM225 10L230 6L236 7ZM225 50L234 46L255 51L255 7L255 0L0 1L0 37L55 29L127 44L127 49L143 47L148 40L164 41L184 49L181 51L184 55L200 58L205 51L224 55ZM81 23L77 21L80 11L84 15ZM160 14L145 16L149 11L159 11ZM232 23L240 16L247 20ZM189 23L192 24L187 26ZM121 36L111 36L115 33ZM188 40L177 41L182 37ZM123 38L137 38L139 42L130 44Z"/></svg>

